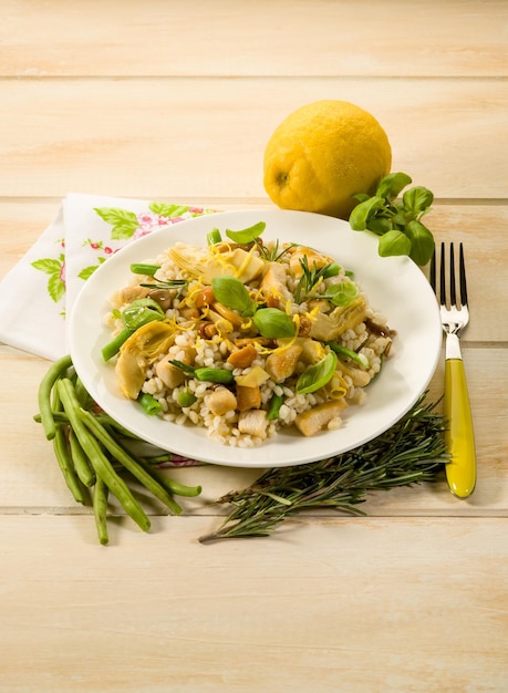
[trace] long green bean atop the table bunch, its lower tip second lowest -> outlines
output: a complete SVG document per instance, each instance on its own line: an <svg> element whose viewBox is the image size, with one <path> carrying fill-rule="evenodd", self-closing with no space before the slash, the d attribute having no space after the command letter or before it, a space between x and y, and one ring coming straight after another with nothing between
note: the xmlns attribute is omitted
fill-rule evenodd
<svg viewBox="0 0 508 693"><path fill-rule="evenodd" d="M151 526L148 517L132 495L124 479L114 470L113 465L104 455L96 438L89 433L89 430L81 421L77 414L81 407L72 382L66 377L61 379L58 382L58 389L70 424L74 428L83 451L92 463L95 474L97 477L102 478L110 490L118 498L122 507L136 525L144 531L147 531Z"/></svg>

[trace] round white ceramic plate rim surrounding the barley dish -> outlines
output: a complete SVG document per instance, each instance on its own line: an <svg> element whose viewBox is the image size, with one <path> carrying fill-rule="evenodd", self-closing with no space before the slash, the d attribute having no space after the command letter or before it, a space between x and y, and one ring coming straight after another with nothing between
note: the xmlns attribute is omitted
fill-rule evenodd
<svg viewBox="0 0 508 693"><path fill-rule="evenodd" d="M214 227L239 230L266 221L263 239L313 246L355 273L371 306L396 330L393 355L369 386L367 401L345 411L343 426L310 438L296 431L280 432L260 447L228 447L206 431L148 417L137 403L122 397L114 364L104 363L102 346L111 340L103 325L108 297L126 286L132 262L154 259L175 241L205 245ZM111 257L86 281L69 323L70 353L84 386L94 400L127 430L145 441L180 455L218 465L277 467L323 459L356 447L398 421L427 387L440 354L442 327L437 301L422 270L408 258L381 258L377 237L351 230L332 217L280 209L230 211L196 217L144 236Z"/></svg>

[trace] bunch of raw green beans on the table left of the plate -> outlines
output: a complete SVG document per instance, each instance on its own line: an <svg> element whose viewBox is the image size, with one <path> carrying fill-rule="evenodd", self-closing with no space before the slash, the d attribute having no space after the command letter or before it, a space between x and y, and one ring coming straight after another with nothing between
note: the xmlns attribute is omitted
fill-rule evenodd
<svg viewBox="0 0 508 693"><path fill-rule="evenodd" d="M83 387L72 359L55 361L43 376L38 391L39 414L45 437L53 449L65 483L77 503L92 496L97 537L102 545L110 540L107 501L114 495L125 513L143 530L149 518L127 485L131 475L160 500L172 515L182 507L174 496L198 496L200 486L186 486L158 472L148 457L134 456L125 446L129 434L110 416L96 412L95 402ZM131 436L132 437L132 436Z"/></svg>

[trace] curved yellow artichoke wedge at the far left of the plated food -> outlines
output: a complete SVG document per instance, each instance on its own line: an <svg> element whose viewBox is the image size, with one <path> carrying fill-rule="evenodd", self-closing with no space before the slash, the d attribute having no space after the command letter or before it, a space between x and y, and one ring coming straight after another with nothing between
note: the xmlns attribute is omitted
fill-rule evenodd
<svg viewBox="0 0 508 693"><path fill-rule="evenodd" d="M115 373L122 394L136 400L148 368L175 341L175 329L167 322L148 322L122 344Z"/></svg>

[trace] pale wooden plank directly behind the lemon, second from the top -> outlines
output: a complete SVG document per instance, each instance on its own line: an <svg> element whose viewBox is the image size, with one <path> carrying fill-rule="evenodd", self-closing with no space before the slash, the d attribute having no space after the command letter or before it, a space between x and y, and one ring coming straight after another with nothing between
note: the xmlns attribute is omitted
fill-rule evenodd
<svg viewBox="0 0 508 693"><path fill-rule="evenodd" d="M3 196L191 190L196 199L269 201L266 143L286 115L320 99L373 113L391 139L393 170L436 198L506 196L504 81L317 77L296 89L291 79L34 80L0 90Z"/></svg>

